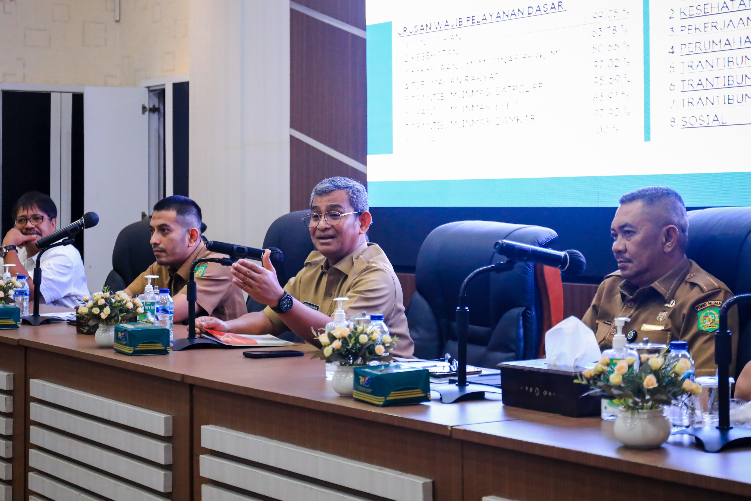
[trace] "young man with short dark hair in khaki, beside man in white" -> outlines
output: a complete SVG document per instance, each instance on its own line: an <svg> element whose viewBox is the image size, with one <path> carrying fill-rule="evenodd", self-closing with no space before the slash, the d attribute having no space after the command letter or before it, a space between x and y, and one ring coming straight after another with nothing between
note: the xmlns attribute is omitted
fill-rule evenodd
<svg viewBox="0 0 751 501"><path fill-rule="evenodd" d="M140 274L125 292L134 296L143 294L146 275L152 279L154 291L170 289L174 301L173 321L188 319L188 296L185 284L190 267L198 258L225 258L209 252L201 240L201 207L188 197L173 195L162 198L154 206L149 222L151 246L156 262ZM223 320L237 318L248 310L243 292L232 285L228 267L216 263L199 264L195 269L197 289L196 315L214 315Z"/></svg>

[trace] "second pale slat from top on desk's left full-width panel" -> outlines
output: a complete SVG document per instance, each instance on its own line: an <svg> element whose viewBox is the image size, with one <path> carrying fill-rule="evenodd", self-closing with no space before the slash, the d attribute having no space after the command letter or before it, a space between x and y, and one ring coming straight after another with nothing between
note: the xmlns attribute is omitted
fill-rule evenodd
<svg viewBox="0 0 751 501"><path fill-rule="evenodd" d="M85 439L152 460L159 464L172 463L172 444L147 436L122 430L121 428L82 418L60 409L32 402L29 405L29 418L47 424Z"/></svg>

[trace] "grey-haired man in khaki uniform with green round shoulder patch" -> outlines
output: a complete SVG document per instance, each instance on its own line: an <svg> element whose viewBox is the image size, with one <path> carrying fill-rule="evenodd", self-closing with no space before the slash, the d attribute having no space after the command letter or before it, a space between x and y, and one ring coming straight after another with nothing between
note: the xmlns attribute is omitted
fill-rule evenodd
<svg viewBox="0 0 751 501"><path fill-rule="evenodd" d="M713 376L719 306L732 293L686 258L688 220L683 199L672 189L652 186L623 195L620 204L611 225L618 271L600 284L582 318L584 324L595 331L600 348L607 349L616 333L614 319L629 317L623 327L629 343L644 338L663 344L686 341L696 376ZM735 308L728 327L734 334L735 352Z"/></svg>

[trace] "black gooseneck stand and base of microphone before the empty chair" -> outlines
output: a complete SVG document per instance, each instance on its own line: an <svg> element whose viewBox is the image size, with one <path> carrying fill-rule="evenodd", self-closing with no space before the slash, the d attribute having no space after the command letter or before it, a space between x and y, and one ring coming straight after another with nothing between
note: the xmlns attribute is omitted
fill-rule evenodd
<svg viewBox="0 0 751 501"><path fill-rule="evenodd" d="M457 369L456 383L442 383L433 385L430 390L437 391L441 395L442 403L461 402L463 400L478 400L485 397L485 392L501 393L501 388L467 382L467 331L469 330L469 306L466 306L466 288L475 276L494 271L500 273L510 270L514 266L513 261L498 262L478 268L469 273L459 289L459 303L457 305L457 351L459 355L459 367Z"/></svg>

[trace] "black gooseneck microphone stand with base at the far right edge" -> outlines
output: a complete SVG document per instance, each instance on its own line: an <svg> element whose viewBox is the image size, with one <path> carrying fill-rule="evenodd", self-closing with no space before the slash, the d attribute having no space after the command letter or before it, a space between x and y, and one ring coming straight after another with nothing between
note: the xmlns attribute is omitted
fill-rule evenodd
<svg viewBox="0 0 751 501"><path fill-rule="evenodd" d="M726 445L751 443L751 429L730 426L730 364L733 361L732 333L728 329L728 310L740 303L751 303L751 294L738 294L719 308L719 328L714 333L714 361L717 364L719 422L716 427L687 428L675 435L692 435L704 445L704 451L719 452Z"/></svg>

